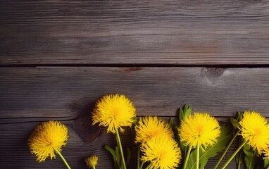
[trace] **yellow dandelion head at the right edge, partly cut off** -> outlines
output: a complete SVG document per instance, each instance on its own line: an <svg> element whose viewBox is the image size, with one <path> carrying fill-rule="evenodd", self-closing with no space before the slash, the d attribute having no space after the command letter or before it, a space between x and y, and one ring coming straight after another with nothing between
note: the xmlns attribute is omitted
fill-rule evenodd
<svg viewBox="0 0 269 169"><path fill-rule="evenodd" d="M269 125L260 113L245 111L239 122L241 135L261 155L269 145Z"/></svg>

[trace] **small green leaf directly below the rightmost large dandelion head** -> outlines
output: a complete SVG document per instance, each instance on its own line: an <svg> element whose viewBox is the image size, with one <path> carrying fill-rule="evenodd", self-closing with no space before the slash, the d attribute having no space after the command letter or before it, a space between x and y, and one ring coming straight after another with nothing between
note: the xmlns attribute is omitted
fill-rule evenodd
<svg viewBox="0 0 269 169"><path fill-rule="evenodd" d="M251 149L251 146L249 146L249 144L244 144L243 151L245 168L254 169L258 162L258 156L255 155L253 149Z"/></svg>

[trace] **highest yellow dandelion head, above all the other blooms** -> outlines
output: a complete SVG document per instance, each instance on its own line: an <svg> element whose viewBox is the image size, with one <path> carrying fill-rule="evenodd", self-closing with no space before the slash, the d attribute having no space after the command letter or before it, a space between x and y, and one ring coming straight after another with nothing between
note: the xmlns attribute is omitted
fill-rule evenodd
<svg viewBox="0 0 269 169"><path fill-rule="evenodd" d="M130 127L135 115L135 108L129 99L122 94L111 94L97 101L92 113L93 125L100 123L108 127L107 132L115 133L118 129L124 132L123 127Z"/></svg>

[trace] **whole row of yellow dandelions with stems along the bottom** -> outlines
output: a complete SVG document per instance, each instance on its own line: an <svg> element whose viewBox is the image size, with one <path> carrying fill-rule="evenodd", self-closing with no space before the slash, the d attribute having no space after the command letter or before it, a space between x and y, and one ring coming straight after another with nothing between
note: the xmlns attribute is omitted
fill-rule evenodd
<svg viewBox="0 0 269 169"><path fill-rule="evenodd" d="M137 168L139 169L177 168L182 159L184 159L184 163L180 165L180 168L185 169L187 163L191 161L189 159L192 156L191 153L194 152L196 152L196 161L194 162L196 169L204 168L204 165L199 165L201 155L204 155L203 152L207 151L208 147L214 146L220 141L223 132L218 120L208 113L186 113L183 115L184 118L180 119L180 124L175 127L175 125L170 125L166 120L156 116L146 116L137 120L135 111L130 99L121 94L104 96L96 102L92 111L93 125L98 123L100 126L107 127L107 132L116 135L117 149L120 149L120 154L113 156L117 156L118 168L126 169L127 166L120 142L120 132L124 132L125 127L134 125L136 134L134 143L139 147L137 160ZM242 137L243 142L222 168L226 168L232 158L245 145L251 146L252 151L257 156L269 160L269 125L260 113L244 112L242 118L237 120L234 130L237 132L229 144L225 143L226 149L215 168L218 167L227 149L230 148L237 136ZM179 138L180 141L176 138ZM61 155L61 147L66 145L67 139L67 127L60 122L49 121L35 128L28 139L28 144L32 154L37 156L37 161L43 162L47 157L55 158L58 154L67 168L70 168ZM113 150L111 149L111 151ZM98 156L85 158L89 168L95 169L97 161ZM145 164L146 167L144 167Z"/></svg>

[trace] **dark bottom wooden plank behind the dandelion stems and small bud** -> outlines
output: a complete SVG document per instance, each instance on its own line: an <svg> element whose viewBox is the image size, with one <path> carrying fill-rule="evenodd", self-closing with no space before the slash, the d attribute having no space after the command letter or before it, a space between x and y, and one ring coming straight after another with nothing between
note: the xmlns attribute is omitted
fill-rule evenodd
<svg viewBox="0 0 269 169"><path fill-rule="evenodd" d="M0 168L65 168L65 165L59 157L52 161L47 158L44 163L35 162L35 156L30 154L27 147L27 137L36 125L41 123L41 121L48 119L39 119L40 122L32 121L31 118L28 118L27 120L27 123L0 124ZM113 158L107 151L104 150L104 144L115 146L115 138L112 134L104 133L94 142L83 142L73 130L73 121L68 120L63 121L63 123L68 126L68 134L70 137L68 139L68 144L63 147L62 154L65 156L65 159L68 161L71 168L86 169L87 166L85 165L83 159L94 154L99 156L98 168L113 168ZM130 147L130 149L134 152L136 150L130 135L130 132L121 134L123 147L125 147L125 149ZM232 154L232 151L234 150L235 146L232 146L230 151L227 153L225 160ZM136 154L134 153L132 155L132 164L129 165L130 169L135 168L136 158ZM212 158L210 161L208 161L206 168L213 168L213 165L217 160L218 158ZM229 167L235 168L234 166L234 161L232 161Z"/></svg>

